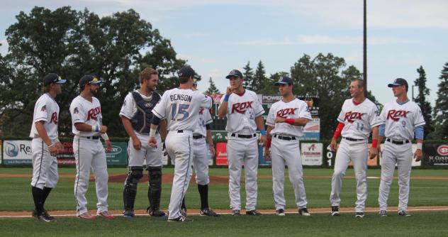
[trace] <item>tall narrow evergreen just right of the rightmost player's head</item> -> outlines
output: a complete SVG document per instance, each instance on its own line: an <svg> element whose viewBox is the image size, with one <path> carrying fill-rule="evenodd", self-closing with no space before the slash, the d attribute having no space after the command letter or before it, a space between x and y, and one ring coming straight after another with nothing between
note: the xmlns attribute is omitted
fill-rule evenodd
<svg viewBox="0 0 448 237"><path fill-rule="evenodd" d="M430 102L426 101L426 96L430 95L430 89L426 87L426 73L422 66L417 69L419 74L418 78L415 79L415 86L418 87L418 96L415 98L415 103L422 109L423 117L425 118L425 137L434 131L432 124L432 108Z"/></svg>

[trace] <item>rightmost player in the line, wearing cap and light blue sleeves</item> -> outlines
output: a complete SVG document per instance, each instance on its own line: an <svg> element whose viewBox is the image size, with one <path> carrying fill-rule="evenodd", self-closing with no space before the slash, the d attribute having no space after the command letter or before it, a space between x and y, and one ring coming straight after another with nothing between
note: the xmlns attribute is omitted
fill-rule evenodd
<svg viewBox="0 0 448 237"><path fill-rule="evenodd" d="M408 212L410 169L413 160L412 143L415 137L417 150L414 158L422 158L423 118L422 110L408 99L408 82L397 78L388 87L392 87L396 100L388 102L381 111L383 124L379 128L379 142L386 137L381 155L381 182L379 184L379 215L387 216L387 199L393 180L395 165L398 166L399 203L398 214L410 216Z"/></svg>

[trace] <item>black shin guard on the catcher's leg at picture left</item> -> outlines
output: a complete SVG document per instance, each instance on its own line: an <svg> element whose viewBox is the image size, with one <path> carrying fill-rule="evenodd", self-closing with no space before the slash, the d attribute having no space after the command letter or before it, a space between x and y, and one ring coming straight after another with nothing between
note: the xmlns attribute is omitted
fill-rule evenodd
<svg viewBox="0 0 448 237"><path fill-rule="evenodd" d="M143 168L141 166L129 167L128 177L125 181L125 189L123 190L125 211L133 211L135 196L137 195L137 184L142 177Z"/></svg>

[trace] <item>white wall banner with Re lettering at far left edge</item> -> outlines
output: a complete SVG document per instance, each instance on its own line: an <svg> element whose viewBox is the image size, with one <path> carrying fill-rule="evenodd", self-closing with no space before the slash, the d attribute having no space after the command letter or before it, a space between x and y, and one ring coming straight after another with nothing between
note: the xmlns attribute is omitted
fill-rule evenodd
<svg viewBox="0 0 448 237"><path fill-rule="evenodd" d="M31 165L32 159L30 140L4 140L4 165Z"/></svg>

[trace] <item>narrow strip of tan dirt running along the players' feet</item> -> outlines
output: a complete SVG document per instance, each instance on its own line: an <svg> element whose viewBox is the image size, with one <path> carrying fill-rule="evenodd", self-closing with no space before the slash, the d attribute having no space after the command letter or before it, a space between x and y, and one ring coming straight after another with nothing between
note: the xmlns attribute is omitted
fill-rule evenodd
<svg viewBox="0 0 448 237"><path fill-rule="evenodd" d="M397 206L391 206L388 208L390 214L395 214L397 211ZM232 211L230 209L214 209L218 214L231 214ZM262 214L275 214L275 210L259 210ZM328 213L330 214L330 209L328 208L311 208L308 209L311 214L322 214ZM378 212L378 207L366 207L366 212ZM448 211L448 206L408 206L408 211ZM286 209L286 214L297 214L297 209ZM342 213L353 213L353 207L342 207L340 208L340 212ZM94 213L94 210L91 210L91 213ZM121 216L123 214L123 210L113 210L111 213L114 216ZM242 210L244 214L245 211ZM67 216L74 217L75 211L50 211L52 216ZM198 216L198 209L189 209L189 216ZM147 216L146 210L135 210L136 216ZM0 211L0 218L23 218L23 217L31 217L30 211ZM148 216L149 217L149 216Z"/></svg>

